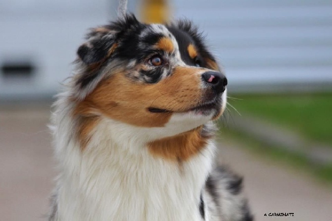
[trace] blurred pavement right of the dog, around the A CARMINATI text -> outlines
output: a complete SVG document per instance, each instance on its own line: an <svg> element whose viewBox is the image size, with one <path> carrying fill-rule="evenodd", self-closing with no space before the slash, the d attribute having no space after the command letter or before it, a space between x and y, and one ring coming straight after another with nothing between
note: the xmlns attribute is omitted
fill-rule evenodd
<svg viewBox="0 0 332 221"><path fill-rule="evenodd" d="M219 161L244 176L245 192L257 221L332 221L332 188L286 165L262 159L221 139ZM294 213L294 217L264 217Z"/></svg>

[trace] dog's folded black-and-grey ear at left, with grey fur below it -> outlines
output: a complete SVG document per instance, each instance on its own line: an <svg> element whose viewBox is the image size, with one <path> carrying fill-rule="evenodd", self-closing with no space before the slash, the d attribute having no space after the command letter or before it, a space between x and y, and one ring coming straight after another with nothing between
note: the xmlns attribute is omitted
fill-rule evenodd
<svg viewBox="0 0 332 221"><path fill-rule="evenodd" d="M122 36L142 25L133 14L127 14L108 25L93 28L86 36L86 43L77 50L77 67L74 79L75 94L79 99L89 94L103 79L104 62L108 62L121 45Z"/></svg>

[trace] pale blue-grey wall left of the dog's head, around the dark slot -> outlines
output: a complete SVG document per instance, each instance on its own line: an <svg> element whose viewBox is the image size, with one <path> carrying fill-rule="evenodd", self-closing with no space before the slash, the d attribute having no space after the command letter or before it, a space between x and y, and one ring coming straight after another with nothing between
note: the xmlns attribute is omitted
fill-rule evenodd
<svg viewBox="0 0 332 221"><path fill-rule="evenodd" d="M0 98L51 96L70 75L88 28L115 13L109 0L0 0L0 65L30 62L31 78L5 78Z"/></svg>

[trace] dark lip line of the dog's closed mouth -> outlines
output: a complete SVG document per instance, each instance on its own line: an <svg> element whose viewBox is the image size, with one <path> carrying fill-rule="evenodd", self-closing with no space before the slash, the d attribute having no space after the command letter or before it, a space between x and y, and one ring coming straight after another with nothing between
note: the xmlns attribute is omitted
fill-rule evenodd
<svg viewBox="0 0 332 221"><path fill-rule="evenodd" d="M220 102L218 102L217 99L214 99L213 101L205 102L203 104L198 104L193 108L189 108L187 110L167 110L167 109L160 109L154 107L150 107L148 108L148 110L152 113L195 112L199 114L210 114L211 111L219 110L220 107L221 107Z"/></svg>

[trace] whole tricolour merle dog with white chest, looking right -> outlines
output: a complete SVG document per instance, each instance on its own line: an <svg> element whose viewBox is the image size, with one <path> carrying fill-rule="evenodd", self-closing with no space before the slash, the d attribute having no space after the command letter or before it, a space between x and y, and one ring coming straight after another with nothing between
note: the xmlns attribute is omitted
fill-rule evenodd
<svg viewBox="0 0 332 221"><path fill-rule="evenodd" d="M190 21L126 14L90 30L52 115L49 221L251 221L214 166L227 79Z"/></svg>

